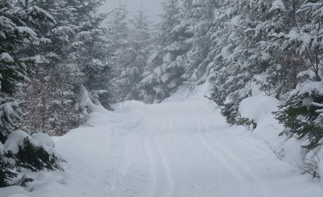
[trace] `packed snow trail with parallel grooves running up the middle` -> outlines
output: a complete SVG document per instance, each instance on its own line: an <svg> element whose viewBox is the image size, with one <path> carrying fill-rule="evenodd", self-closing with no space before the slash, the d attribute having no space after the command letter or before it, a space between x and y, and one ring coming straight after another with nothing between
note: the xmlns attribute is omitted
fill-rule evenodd
<svg viewBox="0 0 323 197"><path fill-rule="evenodd" d="M135 132L128 128L123 131L125 135L136 133L143 138L144 144L137 146L143 146L144 151L137 154L138 157L144 155L148 164L142 166L148 175L146 188L138 187L140 190L130 191L132 194L144 197L271 196L261 178L246 167L248 164L237 160L234 153L226 150L225 143L209 135L228 128L209 103L191 100L142 107L147 112L143 120L145 126L133 129ZM130 152L124 150L121 154L127 159ZM138 169L132 170L125 176L129 173L131 177ZM221 185L225 183L228 185ZM133 181L133 184L136 183ZM113 190L125 190L123 187L129 185L118 184ZM130 195L129 190L125 191L127 193L118 193L118 196Z"/></svg>

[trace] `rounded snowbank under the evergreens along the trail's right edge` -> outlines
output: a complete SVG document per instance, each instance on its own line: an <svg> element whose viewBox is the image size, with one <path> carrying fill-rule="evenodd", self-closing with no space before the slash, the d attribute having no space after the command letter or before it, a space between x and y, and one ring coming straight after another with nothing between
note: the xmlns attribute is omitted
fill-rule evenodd
<svg viewBox="0 0 323 197"><path fill-rule="evenodd" d="M252 136L268 143L271 151L282 157L282 160L298 167L304 164L305 159L314 158L313 152L307 152L301 146L307 145L307 141L299 141L287 136L279 136L284 131L284 126L279 124L272 112L278 111L278 100L274 97L267 96L258 90L258 86L251 84L252 96L241 101L239 113L241 117L253 120L257 126L253 130ZM323 140L322 140L323 141ZM323 157L323 149L315 150L318 156ZM323 159L319 164L319 169L323 172Z"/></svg>

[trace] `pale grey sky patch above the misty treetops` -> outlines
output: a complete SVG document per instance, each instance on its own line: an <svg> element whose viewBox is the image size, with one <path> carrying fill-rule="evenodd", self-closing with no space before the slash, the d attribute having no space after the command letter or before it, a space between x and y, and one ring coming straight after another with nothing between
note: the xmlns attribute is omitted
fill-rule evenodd
<svg viewBox="0 0 323 197"><path fill-rule="evenodd" d="M128 17L136 15L136 11L140 9L142 0L122 0L126 2L127 8L130 11ZM143 0L145 10L148 10L146 14L149 16L149 20L152 22L158 21L159 17L156 15L160 13L163 9L161 8L161 2L164 0ZM119 6L119 0L106 0L105 5L103 5L99 12L107 12Z"/></svg>

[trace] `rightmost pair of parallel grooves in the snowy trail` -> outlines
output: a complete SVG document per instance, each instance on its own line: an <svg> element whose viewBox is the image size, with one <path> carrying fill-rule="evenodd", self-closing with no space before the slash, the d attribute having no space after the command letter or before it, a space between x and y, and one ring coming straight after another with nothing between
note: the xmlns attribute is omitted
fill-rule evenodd
<svg viewBox="0 0 323 197"><path fill-rule="evenodd" d="M196 110L192 110L192 107L187 103L186 105L190 114L194 115L199 129L195 133L195 136L201 142L201 144L232 174L232 176L238 181L240 185L241 196L264 196L270 197L268 189L265 187L263 181L261 181L255 173L253 173L243 162L238 161L231 152L221 148L217 144L221 144L219 141L211 140L211 136L207 133L209 131L208 124L202 118L196 114ZM213 138L214 139L214 138ZM252 182L252 184L250 183ZM248 183L248 185L247 185ZM256 188L256 189L255 189ZM260 194L260 195L259 195Z"/></svg>

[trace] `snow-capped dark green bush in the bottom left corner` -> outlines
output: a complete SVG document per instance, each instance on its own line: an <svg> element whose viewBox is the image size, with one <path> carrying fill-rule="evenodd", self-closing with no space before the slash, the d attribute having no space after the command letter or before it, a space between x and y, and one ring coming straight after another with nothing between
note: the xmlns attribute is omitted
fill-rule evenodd
<svg viewBox="0 0 323 197"><path fill-rule="evenodd" d="M23 101L0 98L0 187L8 186L22 168L32 171L63 168L64 159L56 154L54 143L47 134L31 136L22 130L14 130L22 122L19 105ZM12 131L14 130L14 131Z"/></svg>

